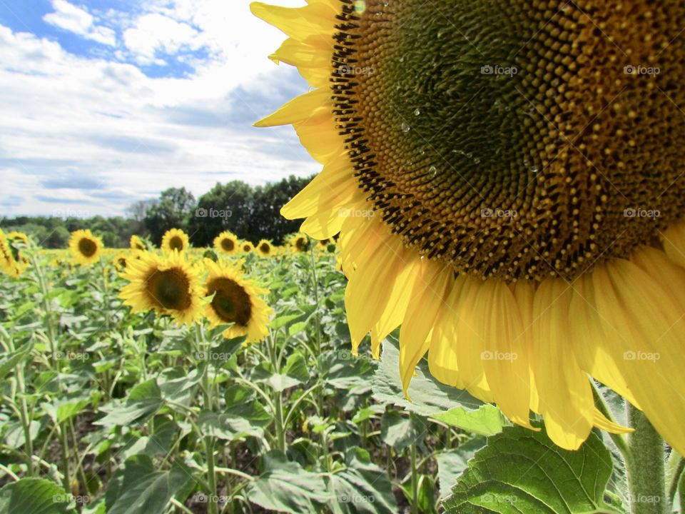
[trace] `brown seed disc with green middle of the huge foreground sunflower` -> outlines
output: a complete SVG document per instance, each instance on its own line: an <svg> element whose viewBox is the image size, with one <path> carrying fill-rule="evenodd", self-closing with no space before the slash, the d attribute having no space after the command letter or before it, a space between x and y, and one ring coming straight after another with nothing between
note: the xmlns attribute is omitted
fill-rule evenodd
<svg viewBox="0 0 685 514"><path fill-rule="evenodd" d="M685 207L685 2L340 0L335 119L392 231L572 280Z"/></svg>

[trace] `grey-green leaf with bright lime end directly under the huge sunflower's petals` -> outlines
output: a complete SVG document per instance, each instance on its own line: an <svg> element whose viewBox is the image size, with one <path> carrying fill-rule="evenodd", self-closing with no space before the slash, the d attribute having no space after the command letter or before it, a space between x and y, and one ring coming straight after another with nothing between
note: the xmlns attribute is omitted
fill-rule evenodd
<svg viewBox="0 0 685 514"><path fill-rule="evenodd" d="M400 351L397 339L383 343L380 365L373 376L373 397L381 403L392 403L420 415L441 417L444 423L483 435L502 430L502 414L494 405L483 403L465 390L435 380L422 360L416 367L407 400L400 381Z"/></svg>

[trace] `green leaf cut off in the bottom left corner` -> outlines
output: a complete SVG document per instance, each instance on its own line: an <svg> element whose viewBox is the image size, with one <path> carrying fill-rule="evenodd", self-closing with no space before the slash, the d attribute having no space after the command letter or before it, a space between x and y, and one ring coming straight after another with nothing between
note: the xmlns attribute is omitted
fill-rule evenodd
<svg viewBox="0 0 685 514"><path fill-rule="evenodd" d="M72 499L50 480L22 478L0 489L0 514L64 514Z"/></svg>

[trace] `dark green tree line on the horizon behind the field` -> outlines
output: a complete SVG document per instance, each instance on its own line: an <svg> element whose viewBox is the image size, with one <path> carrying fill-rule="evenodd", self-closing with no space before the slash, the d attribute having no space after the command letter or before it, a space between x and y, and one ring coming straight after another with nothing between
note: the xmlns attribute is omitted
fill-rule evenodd
<svg viewBox="0 0 685 514"><path fill-rule="evenodd" d="M24 232L44 248L66 248L71 232L79 228L90 229L110 248L128 247L133 234L159 245L170 228L182 228L194 246L210 246L225 230L253 243L269 239L281 244L286 235L298 231L302 220L286 220L280 216L280 208L310 180L290 176L265 186L243 181L217 183L198 199L184 187L168 188L159 198L133 203L126 216L4 217L0 228Z"/></svg>

